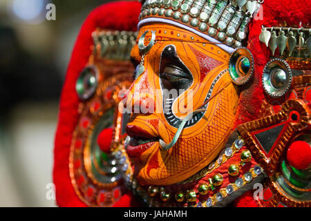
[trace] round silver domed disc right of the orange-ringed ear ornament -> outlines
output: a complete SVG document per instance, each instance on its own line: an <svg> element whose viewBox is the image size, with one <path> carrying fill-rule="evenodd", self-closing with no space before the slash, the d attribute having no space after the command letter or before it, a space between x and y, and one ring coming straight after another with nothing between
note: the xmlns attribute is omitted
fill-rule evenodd
<svg viewBox="0 0 311 221"><path fill-rule="evenodd" d="M270 60L263 69L263 88L270 97L282 97L292 84L292 70L279 58Z"/></svg>

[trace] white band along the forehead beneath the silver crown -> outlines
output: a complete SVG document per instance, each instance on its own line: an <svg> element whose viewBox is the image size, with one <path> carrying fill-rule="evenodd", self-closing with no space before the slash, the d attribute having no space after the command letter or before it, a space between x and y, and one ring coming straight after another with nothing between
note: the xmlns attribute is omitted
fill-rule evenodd
<svg viewBox="0 0 311 221"><path fill-rule="evenodd" d="M138 23L138 30L140 30L140 28L146 24L146 23L151 23L151 22L162 22L162 23L169 23L173 26L178 26L180 28L183 28L185 30L189 30L191 32L194 32L194 34L207 39L207 41L211 41L212 43L216 43L216 45L219 48L222 48L223 50L225 50L226 52L232 53L234 52L234 48L231 48L229 46L226 46L225 44L222 44L220 41L217 41L216 39L209 37L209 35L203 34L202 32L199 32L198 30L191 28L189 26L185 26L182 23L176 22L176 21L171 21L169 19L162 19L162 18L147 18L147 19L142 19L139 23Z"/></svg>

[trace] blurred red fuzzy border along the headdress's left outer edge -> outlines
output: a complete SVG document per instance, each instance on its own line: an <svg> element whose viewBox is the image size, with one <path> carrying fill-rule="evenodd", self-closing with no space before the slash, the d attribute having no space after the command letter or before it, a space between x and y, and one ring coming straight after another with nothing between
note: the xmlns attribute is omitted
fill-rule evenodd
<svg viewBox="0 0 311 221"><path fill-rule="evenodd" d="M135 31L140 14L140 3L119 1L106 3L91 12L84 22L68 66L66 80L59 104L59 122L55 135L55 164L53 179L56 186L56 200L59 206L86 206L77 197L70 181L68 158L75 126L79 119L79 99L75 82L91 55L92 32L96 28Z"/></svg>

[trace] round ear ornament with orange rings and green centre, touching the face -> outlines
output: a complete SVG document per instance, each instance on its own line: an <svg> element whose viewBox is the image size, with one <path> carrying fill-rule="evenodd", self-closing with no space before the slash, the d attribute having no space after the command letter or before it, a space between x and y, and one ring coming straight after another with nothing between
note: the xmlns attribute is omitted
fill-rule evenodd
<svg viewBox="0 0 311 221"><path fill-rule="evenodd" d="M252 52L245 47L236 48L229 59L228 70L234 84L246 84L254 73Z"/></svg>

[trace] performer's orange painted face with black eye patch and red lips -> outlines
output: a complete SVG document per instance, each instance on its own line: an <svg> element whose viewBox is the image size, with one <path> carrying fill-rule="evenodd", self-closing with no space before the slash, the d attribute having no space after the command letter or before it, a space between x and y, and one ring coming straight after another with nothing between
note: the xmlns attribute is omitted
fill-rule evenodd
<svg viewBox="0 0 311 221"><path fill-rule="evenodd" d="M145 45L151 30L156 31L156 44L144 56L144 73L135 79L127 97L135 108L126 128L132 137L126 151L134 160L140 184L165 186L194 175L218 155L232 132L238 89L227 72L225 50L162 23L144 26L138 39L146 30ZM131 57L140 64L137 45ZM176 144L162 150L159 139L171 142L187 113L207 100L203 106L207 111L194 114Z"/></svg>

